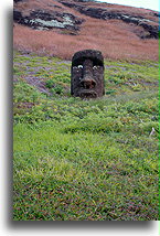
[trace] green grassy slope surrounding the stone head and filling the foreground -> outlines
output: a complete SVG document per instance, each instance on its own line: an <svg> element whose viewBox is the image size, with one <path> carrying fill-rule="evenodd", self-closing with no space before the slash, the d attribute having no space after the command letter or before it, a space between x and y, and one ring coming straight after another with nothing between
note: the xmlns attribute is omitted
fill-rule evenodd
<svg viewBox="0 0 160 236"><path fill-rule="evenodd" d="M70 96L70 66L14 55L13 219L158 219L158 63L106 61L97 100Z"/></svg>

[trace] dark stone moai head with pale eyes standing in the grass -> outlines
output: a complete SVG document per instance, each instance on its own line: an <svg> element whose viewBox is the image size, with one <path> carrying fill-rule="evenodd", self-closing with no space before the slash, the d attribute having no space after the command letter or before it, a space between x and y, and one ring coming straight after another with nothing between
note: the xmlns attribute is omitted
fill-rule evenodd
<svg viewBox="0 0 160 236"><path fill-rule="evenodd" d="M71 94L81 98L97 98L105 94L104 57L99 51L85 50L74 54Z"/></svg>

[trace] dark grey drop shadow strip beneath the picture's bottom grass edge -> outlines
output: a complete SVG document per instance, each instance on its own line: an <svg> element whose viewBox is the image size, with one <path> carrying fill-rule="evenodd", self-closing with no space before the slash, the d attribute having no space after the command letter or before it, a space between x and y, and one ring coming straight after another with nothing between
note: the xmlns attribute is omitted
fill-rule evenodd
<svg viewBox="0 0 160 236"><path fill-rule="evenodd" d="M60 229L60 230L151 230L153 227L153 222L8 222L8 227L10 229L28 229L36 230L36 229Z"/></svg>

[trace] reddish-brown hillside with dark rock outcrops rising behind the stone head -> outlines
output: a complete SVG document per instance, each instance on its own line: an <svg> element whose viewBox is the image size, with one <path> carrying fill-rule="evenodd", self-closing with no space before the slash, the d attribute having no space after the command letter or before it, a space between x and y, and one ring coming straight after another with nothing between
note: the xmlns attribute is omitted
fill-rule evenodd
<svg viewBox="0 0 160 236"><path fill-rule="evenodd" d="M109 58L158 60L158 12L83 0L14 1L14 49L71 60L93 49Z"/></svg>

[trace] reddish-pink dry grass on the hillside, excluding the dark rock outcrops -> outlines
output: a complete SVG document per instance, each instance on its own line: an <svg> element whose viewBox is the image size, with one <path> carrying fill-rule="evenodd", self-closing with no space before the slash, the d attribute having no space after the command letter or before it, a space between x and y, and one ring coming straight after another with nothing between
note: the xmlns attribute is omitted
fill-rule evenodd
<svg viewBox="0 0 160 236"><path fill-rule="evenodd" d="M68 1L70 2L70 1ZM129 12L130 14L152 19L152 11L106 3L82 3L94 8L108 7L111 11ZM54 7L53 7L54 6ZM60 8L58 8L60 7ZM38 31L14 24L13 45L15 50L39 55L58 56L71 60L72 55L86 49L99 50L105 57L114 60L153 60L158 61L158 40L141 40L137 34L145 31L140 26L120 20L99 20L81 14L57 1L42 0L19 2L17 9L28 14L31 10L56 10L68 12L85 20L77 35L70 35L62 29Z"/></svg>

